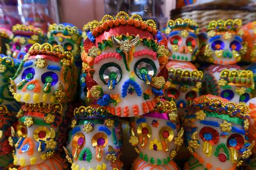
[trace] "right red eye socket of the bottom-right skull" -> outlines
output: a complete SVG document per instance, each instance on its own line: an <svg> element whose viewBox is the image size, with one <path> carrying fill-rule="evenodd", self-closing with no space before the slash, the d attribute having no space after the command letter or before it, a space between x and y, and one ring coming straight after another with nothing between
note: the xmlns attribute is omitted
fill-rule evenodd
<svg viewBox="0 0 256 170"><path fill-rule="evenodd" d="M244 138L240 134L232 134L227 139L227 147L228 148L234 148L235 150L240 150L242 148L242 145L244 145Z"/></svg>

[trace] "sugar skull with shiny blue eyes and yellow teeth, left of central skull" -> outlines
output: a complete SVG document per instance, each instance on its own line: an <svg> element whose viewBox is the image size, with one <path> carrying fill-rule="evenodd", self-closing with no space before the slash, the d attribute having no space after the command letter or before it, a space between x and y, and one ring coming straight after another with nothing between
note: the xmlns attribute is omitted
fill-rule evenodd
<svg viewBox="0 0 256 170"><path fill-rule="evenodd" d="M9 88L18 102L63 103L72 100L76 85L73 55L45 43L30 48Z"/></svg>

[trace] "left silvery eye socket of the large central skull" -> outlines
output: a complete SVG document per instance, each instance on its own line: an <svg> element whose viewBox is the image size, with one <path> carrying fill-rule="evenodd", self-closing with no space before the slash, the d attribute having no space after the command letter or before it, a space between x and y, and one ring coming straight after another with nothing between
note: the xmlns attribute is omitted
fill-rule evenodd
<svg viewBox="0 0 256 170"><path fill-rule="evenodd" d="M105 84L107 84L109 80L118 83L122 79L122 69L117 63L105 63L99 69L99 77Z"/></svg>

